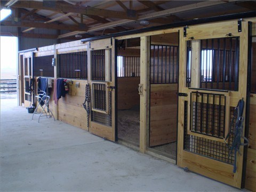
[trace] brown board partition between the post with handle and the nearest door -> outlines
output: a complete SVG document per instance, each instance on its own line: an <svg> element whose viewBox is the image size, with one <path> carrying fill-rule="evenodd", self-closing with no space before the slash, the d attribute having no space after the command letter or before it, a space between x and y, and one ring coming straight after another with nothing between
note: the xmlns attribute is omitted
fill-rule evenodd
<svg viewBox="0 0 256 192"><path fill-rule="evenodd" d="M177 84L150 85L149 146L177 140Z"/></svg>

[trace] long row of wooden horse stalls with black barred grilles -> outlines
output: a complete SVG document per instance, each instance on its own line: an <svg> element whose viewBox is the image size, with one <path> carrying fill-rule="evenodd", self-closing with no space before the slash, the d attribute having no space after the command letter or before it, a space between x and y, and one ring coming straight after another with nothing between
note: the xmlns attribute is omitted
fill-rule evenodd
<svg viewBox="0 0 256 192"><path fill-rule="evenodd" d="M255 190L256 18L218 19L23 51L20 105L36 106L36 79L50 78L49 108L56 119ZM67 79L68 91L55 102L58 79ZM231 150L238 141L239 100L241 135L249 139L241 155Z"/></svg>

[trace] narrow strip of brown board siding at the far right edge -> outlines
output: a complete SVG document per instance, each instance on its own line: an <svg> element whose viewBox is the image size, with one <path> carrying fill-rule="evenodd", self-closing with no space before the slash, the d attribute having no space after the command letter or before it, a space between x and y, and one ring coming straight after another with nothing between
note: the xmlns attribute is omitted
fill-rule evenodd
<svg viewBox="0 0 256 192"><path fill-rule="evenodd" d="M256 191L256 94L252 94L245 188Z"/></svg>

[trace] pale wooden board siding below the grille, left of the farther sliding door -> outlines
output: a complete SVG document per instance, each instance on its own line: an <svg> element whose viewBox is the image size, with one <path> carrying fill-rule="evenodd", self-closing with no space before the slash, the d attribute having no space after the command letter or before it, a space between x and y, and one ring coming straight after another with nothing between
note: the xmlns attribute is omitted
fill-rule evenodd
<svg viewBox="0 0 256 192"><path fill-rule="evenodd" d="M79 82L79 87L76 87L76 82ZM83 107L86 84L87 81L83 80L68 83L68 94L58 100L58 114L60 121L88 131L87 113Z"/></svg>

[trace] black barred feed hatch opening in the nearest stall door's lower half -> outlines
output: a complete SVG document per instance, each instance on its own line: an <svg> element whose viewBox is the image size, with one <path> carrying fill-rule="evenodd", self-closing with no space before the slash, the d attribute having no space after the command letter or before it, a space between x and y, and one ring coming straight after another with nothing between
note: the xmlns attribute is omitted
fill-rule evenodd
<svg viewBox="0 0 256 192"><path fill-rule="evenodd" d="M190 103L190 131L225 138L226 96L191 92Z"/></svg>

